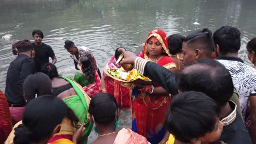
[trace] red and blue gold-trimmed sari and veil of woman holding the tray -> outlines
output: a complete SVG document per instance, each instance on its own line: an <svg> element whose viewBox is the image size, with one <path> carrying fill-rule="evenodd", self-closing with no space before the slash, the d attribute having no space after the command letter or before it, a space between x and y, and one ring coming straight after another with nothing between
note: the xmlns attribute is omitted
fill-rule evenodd
<svg viewBox="0 0 256 144"><path fill-rule="evenodd" d="M168 51L166 34L161 29L154 29L149 33L140 57L149 59L147 41L151 37L156 37L164 49L164 56L162 56L156 63L166 69L176 68L176 64L170 57L170 52ZM153 86L158 87L156 83L154 83ZM137 88L133 89L133 96L132 130L142 136L146 136L151 143L159 143L166 132L164 123L170 99L166 96L161 97L139 92Z"/></svg>

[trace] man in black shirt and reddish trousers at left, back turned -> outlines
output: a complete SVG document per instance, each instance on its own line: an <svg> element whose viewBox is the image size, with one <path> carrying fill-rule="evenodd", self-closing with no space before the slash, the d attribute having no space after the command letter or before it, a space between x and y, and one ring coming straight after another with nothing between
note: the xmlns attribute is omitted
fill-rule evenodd
<svg viewBox="0 0 256 144"><path fill-rule="evenodd" d="M22 119L25 109L22 85L26 77L34 74L33 45L29 40L16 43L18 57L10 63L7 71L5 97L7 98L13 125Z"/></svg>

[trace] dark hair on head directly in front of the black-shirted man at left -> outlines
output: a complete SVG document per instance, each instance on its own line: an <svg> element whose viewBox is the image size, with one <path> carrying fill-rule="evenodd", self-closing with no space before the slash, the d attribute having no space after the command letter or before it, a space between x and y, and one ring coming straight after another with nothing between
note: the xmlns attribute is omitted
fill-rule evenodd
<svg viewBox="0 0 256 144"><path fill-rule="evenodd" d="M23 92L25 94L27 103L33 98L52 94L51 80L48 75L44 73L36 73L27 76L23 83Z"/></svg>

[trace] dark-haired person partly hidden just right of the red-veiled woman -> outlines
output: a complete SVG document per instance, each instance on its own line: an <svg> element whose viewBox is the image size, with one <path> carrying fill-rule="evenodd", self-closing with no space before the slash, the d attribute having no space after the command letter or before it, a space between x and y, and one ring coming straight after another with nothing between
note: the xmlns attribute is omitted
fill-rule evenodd
<svg viewBox="0 0 256 144"><path fill-rule="evenodd" d="M182 44L185 37L179 34L172 34L167 37L168 40L168 49L171 53L171 58L177 65L177 71L182 68L182 61L179 58L182 53Z"/></svg>

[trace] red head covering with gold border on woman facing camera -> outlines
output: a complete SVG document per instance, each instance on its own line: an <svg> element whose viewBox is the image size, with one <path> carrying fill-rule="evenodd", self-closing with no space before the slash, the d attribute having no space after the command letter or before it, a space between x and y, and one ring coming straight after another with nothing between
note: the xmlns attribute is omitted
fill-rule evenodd
<svg viewBox="0 0 256 144"><path fill-rule="evenodd" d="M142 58L148 58L147 56L147 52L148 52L148 48L147 48L147 43L148 43L148 39L151 37L156 37L156 39L158 39L158 41L161 43L162 45L162 49L164 49L165 53L168 56L171 56L169 50L168 50L168 43L167 43L167 38L166 38L166 34L164 31L162 31L162 29L153 29L152 31L150 31L150 33L148 34L148 37L145 41L145 45L144 48L141 52L141 57Z"/></svg>

